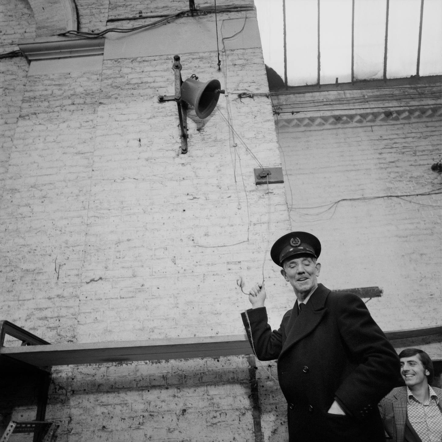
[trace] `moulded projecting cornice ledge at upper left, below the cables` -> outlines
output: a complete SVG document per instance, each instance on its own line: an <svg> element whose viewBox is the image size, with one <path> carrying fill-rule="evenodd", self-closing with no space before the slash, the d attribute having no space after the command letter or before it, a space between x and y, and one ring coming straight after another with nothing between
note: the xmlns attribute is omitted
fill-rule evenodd
<svg viewBox="0 0 442 442"><path fill-rule="evenodd" d="M104 38L38 38L20 42L19 48L28 61L103 55Z"/></svg>

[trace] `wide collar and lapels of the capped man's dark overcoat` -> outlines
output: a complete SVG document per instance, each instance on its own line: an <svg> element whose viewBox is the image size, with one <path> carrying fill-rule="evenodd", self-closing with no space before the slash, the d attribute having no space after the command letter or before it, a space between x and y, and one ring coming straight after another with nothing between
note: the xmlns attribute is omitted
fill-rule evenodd
<svg viewBox="0 0 442 442"><path fill-rule="evenodd" d="M298 301L293 306L292 314L286 325L287 338L282 346L279 358L294 344L305 338L321 322L327 309L324 307L325 300L330 290L322 284L318 284L317 289L312 293L309 302L305 304L301 314L298 315Z"/></svg>

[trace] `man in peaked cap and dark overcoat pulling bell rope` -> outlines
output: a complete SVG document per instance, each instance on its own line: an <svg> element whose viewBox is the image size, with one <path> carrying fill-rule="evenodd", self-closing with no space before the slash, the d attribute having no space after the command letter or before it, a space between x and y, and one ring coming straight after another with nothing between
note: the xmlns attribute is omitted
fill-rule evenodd
<svg viewBox="0 0 442 442"><path fill-rule="evenodd" d="M244 327L258 359L278 359L289 442L383 442L377 403L396 385L399 358L358 296L318 284L320 251L307 232L279 238L271 258L296 302L272 331L265 287L256 284Z"/></svg>

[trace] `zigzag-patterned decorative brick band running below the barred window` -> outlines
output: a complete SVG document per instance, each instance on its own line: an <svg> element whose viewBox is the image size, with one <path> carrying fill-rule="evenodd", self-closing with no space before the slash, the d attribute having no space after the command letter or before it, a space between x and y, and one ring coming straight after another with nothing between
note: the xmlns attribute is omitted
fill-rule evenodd
<svg viewBox="0 0 442 442"><path fill-rule="evenodd" d="M379 110L335 115L274 115L279 129L330 129L333 126L370 126L374 124L402 123L442 119L442 105L396 110Z"/></svg>

